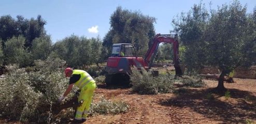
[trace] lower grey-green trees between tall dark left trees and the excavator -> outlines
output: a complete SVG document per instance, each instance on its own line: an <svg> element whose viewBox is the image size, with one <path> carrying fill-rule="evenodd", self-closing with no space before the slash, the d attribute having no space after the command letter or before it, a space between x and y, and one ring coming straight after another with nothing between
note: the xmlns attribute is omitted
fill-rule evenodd
<svg viewBox="0 0 256 124"><path fill-rule="evenodd" d="M99 38L71 35L53 44L51 56L66 60L69 67L98 63L102 44Z"/></svg>

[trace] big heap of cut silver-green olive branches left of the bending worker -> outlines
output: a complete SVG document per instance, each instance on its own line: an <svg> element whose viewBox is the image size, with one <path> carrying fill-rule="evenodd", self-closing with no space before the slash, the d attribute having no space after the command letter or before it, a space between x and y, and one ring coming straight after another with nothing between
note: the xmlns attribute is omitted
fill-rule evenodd
<svg viewBox="0 0 256 124"><path fill-rule="evenodd" d="M8 73L0 79L1 115L21 121L46 122L51 117L51 105L68 85L63 69L56 66L63 63L59 59L37 60L31 72L7 66Z"/></svg>

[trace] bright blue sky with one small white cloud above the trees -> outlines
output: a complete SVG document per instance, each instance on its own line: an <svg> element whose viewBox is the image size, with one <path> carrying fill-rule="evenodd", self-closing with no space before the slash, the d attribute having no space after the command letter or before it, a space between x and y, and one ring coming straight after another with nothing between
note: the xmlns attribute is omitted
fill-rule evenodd
<svg viewBox="0 0 256 124"><path fill-rule="evenodd" d="M157 19L154 24L158 34L169 34L172 20L181 12L188 12L201 0L8 0L0 2L0 16L23 15L26 19L37 18L40 14L47 21L45 29L51 35L52 42L64 39L72 34L84 37L104 38L110 28L110 16L121 6L123 9L140 11ZM207 7L217 9L232 0L202 0ZM255 0L240 0L252 12Z"/></svg>

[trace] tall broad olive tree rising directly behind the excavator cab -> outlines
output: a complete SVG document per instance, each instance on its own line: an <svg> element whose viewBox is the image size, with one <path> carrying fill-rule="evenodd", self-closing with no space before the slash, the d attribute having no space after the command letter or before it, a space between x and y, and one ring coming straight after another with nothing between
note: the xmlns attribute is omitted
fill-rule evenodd
<svg viewBox="0 0 256 124"><path fill-rule="evenodd" d="M132 43L139 55L145 55L149 41L155 35L155 20L139 11L129 11L119 6L110 17L110 30L103 45L109 47L113 43Z"/></svg>

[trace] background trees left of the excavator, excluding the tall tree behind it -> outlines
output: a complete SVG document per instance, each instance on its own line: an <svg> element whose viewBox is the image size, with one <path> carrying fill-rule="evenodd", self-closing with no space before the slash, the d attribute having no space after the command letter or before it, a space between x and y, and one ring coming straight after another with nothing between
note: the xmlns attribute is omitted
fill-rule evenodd
<svg viewBox="0 0 256 124"><path fill-rule="evenodd" d="M33 66L34 60L45 60L49 56L66 60L66 65L70 67L104 61L99 57L104 55L101 54L103 48L100 38L71 35L52 44L51 37L46 34L45 25L46 21L41 15L30 20L21 15L17 19L10 15L0 17L0 66Z"/></svg>

